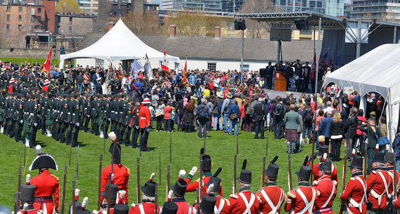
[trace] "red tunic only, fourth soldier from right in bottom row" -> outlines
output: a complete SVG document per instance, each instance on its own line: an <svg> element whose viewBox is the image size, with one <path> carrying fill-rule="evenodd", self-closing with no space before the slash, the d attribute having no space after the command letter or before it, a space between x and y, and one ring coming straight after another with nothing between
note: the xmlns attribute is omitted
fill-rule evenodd
<svg viewBox="0 0 400 214"><path fill-rule="evenodd" d="M314 211L333 214L332 203L336 197L337 184L331 180L330 175L324 175L314 182L314 189L317 191Z"/></svg>

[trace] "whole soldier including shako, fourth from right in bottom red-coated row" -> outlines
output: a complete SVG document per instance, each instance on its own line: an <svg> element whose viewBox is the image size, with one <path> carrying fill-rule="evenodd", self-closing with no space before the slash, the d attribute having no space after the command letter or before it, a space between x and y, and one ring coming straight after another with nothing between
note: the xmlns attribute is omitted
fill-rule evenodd
<svg viewBox="0 0 400 214"><path fill-rule="evenodd" d="M313 182L314 189L316 190L314 214L333 214L332 203L336 197L338 183L330 177L332 162L330 159L327 159L325 162L319 164L318 169L319 178Z"/></svg>

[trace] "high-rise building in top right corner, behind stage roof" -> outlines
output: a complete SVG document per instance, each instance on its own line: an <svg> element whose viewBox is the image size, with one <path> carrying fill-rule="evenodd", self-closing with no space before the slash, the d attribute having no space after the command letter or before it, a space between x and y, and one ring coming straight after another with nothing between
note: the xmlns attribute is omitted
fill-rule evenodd
<svg viewBox="0 0 400 214"><path fill-rule="evenodd" d="M380 19L400 22L400 1L397 0L353 0L351 19Z"/></svg>

